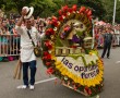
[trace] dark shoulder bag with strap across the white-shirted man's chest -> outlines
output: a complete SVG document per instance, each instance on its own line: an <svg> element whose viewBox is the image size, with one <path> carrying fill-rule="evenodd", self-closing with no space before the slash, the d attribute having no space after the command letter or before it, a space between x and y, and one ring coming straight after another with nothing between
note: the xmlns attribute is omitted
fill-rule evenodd
<svg viewBox="0 0 120 98"><path fill-rule="evenodd" d="M32 39L32 36L31 36L31 34L29 34L29 30L27 30L27 34L28 34L29 39ZM41 57L41 48L38 47L38 46L35 46L33 39L32 39L32 44L33 44L33 46L34 46L34 54L35 54L36 57Z"/></svg>

